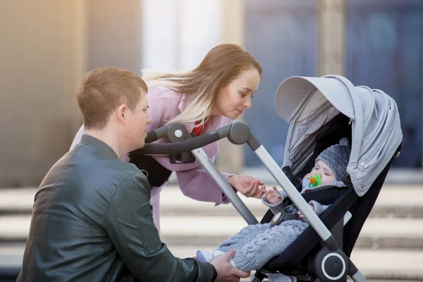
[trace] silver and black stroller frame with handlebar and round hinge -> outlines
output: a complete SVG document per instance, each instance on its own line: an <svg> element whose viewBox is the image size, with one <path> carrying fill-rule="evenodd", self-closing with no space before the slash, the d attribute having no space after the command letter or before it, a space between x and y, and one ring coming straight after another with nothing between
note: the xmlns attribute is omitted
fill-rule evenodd
<svg viewBox="0 0 423 282"><path fill-rule="evenodd" d="M146 143L151 143L161 138L166 138L167 142L169 142L168 144L146 144L142 149L138 149L137 153L182 154L182 156L184 154L185 156L186 154L193 154L207 173L212 176L216 184L219 185L223 194L226 195L238 213L243 216L243 219L248 224L257 224L259 222L255 216L245 206L244 202L240 200L240 197L238 197L233 188L221 176L221 173L201 149L204 145L216 142L225 137L234 145L247 143L321 238L324 247L314 259L314 274L317 278L320 281L345 281L346 277L350 276L353 281L367 281L350 258L341 250L335 237L326 228L317 214L309 207L309 204L300 195L300 192L298 192L286 174L283 173L283 170L276 164L276 161L274 161L269 152L266 151L259 140L251 133L246 123L235 121L199 137L191 137L185 127L180 123L170 123L149 132L146 139ZM262 270L256 270L250 282L262 281L265 278L263 272Z"/></svg>

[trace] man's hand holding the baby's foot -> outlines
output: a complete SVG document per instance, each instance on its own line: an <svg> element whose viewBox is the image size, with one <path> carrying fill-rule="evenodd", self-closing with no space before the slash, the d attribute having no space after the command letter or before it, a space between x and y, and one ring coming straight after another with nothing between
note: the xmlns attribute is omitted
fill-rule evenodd
<svg viewBox="0 0 423 282"><path fill-rule="evenodd" d="M210 260L217 271L216 282L231 281L238 282L240 278L247 278L250 276L250 271L244 272L237 269L229 262L235 256L236 250L232 249L226 254L218 255Z"/></svg>

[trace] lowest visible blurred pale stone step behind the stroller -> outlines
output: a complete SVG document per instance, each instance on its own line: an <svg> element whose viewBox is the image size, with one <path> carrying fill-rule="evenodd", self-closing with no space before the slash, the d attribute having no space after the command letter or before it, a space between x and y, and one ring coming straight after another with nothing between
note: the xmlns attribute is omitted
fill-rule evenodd
<svg viewBox="0 0 423 282"><path fill-rule="evenodd" d="M212 250L209 245L168 244L176 257L192 257L197 250ZM21 266L25 245L0 245L0 266ZM423 252L413 250L362 250L353 251L351 259L368 281L398 279L403 282L423 280ZM254 271L252 271L254 272ZM243 281L248 281L247 279Z"/></svg>

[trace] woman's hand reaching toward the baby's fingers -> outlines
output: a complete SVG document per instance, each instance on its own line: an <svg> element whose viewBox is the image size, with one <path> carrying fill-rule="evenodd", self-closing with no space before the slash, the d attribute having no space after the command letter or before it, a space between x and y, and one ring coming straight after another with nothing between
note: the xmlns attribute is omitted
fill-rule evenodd
<svg viewBox="0 0 423 282"><path fill-rule="evenodd" d="M262 180L252 176L231 176L227 179L229 185L243 194L245 197L255 197L260 199L266 191L266 186ZM259 186L262 186L261 188Z"/></svg>

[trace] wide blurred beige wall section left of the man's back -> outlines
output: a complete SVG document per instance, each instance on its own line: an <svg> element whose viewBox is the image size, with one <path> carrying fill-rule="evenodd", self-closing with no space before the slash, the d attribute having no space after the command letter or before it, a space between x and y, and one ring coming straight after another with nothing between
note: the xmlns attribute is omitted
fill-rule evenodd
<svg viewBox="0 0 423 282"><path fill-rule="evenodd" d="M0 1L0 187L39 185L71 145L85 0Z"/></svg>

